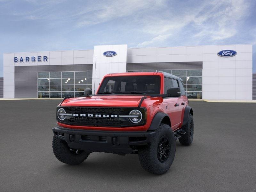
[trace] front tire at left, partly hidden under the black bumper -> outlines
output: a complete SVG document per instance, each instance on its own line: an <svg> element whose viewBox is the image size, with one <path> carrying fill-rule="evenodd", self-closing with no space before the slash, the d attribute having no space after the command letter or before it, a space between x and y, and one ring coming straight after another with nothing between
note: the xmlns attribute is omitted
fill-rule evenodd
<svg viewBox="0 0 256 192"><path fill-rule="evenodd" d="M85 151L80 151L78 154L70 150L66 141L53 136L52 139L52 149L54 155L59 161L69 165L78 165L84 162L84 160L89 156L90 153ZM74 150L74 149L73 149Z"/></svg>

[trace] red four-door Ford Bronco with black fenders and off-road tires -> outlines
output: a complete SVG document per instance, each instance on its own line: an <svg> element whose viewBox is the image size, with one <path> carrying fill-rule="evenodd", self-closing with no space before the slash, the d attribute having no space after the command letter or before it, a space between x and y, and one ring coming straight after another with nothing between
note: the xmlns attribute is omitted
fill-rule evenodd
<svg viewBox="0 0 256 192"><path fill-rule="evenodd" d="M172 165L175 140L190 145L193 111L182 79L165 72L104 76L85 97L64 98L57 107L52 148L61 162L82 163L92 152L138 154L148 172L163 174Z"/></svg>

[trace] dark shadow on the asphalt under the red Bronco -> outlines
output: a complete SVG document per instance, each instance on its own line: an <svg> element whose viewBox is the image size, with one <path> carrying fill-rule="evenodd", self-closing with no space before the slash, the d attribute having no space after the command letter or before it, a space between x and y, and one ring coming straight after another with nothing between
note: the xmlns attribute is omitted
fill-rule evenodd
<svg viewBox="0 0 256 192"><path fill-rule="evenodd" d="M180 143L176 143L176 156L179 151L182 151ZM180 151L180 152L181 152ZM174 159L175 162L179 162L179 159ZM171 166L170 170L166 173L170 173L175 170L174 166ZM149 177L159 176L149 172L146 172L140 165L139 157L136 154L126 154L120 156L116 154L108 153L91 153L89 157L82 163L76 166L62 164L57 162L54 166L54 170L51 170L54 174L61 175L76 175L77 177L88 176L90 177L104 177L111 174L115 178L126 177Z"/></svg>

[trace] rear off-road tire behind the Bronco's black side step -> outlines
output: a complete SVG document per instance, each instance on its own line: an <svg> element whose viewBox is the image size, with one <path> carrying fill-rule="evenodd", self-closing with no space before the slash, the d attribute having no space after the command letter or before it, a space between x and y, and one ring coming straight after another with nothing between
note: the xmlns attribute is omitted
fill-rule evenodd
<svg viewBox="0 0 256 192"><path fill-rule="evenodd" d="M194 120L191 114L188 115L188 122L182 126L182 130L186 133L179 138L181 145L191 145L194 135Z"/></svg>

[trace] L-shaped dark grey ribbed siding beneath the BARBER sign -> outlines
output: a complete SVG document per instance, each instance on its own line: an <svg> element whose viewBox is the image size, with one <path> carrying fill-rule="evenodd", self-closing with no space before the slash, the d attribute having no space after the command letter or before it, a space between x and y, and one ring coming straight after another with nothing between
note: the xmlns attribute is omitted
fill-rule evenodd
<svg viewBox="0 0 256 192"><path fill-rule="evenodd" d="M92 64L16 66L14 70L15 98L37 98L37 72L92 71Z"/></svg>

